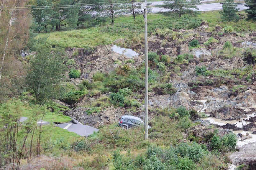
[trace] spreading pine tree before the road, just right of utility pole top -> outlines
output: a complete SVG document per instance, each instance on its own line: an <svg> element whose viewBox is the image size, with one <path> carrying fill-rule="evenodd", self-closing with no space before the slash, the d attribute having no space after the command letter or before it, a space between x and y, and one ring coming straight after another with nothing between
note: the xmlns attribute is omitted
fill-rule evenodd
<svg viewBox="0 0 256 170"><path fill-rule="evenodd" d="M193 11L193 9L198 10L196 6L197 3L200 3L201 0L174 0L169 1L165 0L163 5L159 5L160 7L169 9L173 12L179 14L179 17L183 14L197 14L198 11Z"/></svg>

